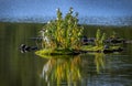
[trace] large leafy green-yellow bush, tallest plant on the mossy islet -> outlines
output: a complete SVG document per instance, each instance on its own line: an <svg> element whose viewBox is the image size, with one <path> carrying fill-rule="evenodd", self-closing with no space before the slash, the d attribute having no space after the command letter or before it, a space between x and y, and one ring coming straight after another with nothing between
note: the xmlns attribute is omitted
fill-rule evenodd
<svg viewBox="0 0 132 86"><path fill-rule="evenodd" d="M56 20L52 20L41 30L43 46L47 49L79 49L84 28L78 25L78 13L73 8L63 18L57 9Z"/></svg>

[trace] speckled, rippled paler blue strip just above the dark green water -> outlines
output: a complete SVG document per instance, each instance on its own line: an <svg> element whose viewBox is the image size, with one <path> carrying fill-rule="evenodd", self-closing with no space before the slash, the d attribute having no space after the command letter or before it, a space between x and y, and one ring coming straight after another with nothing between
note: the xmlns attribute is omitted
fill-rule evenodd
<svg viewBox="0 0 132 86"><path fill-rule="evenodd" d="M55 17L42 18L0 18L1 22L46 23ZM79 17L80 24L91 25L132 25L132 17Z"/></svg>

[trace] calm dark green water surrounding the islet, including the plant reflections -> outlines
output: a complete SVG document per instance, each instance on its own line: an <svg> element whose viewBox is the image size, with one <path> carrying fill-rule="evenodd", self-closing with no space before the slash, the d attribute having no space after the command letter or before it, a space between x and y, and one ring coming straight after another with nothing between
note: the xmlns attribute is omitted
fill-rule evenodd
<svg viewBox="0 0 132 86"><path fill-rule="evenodd" d="M0 86L132 86L132 44L122 53L82 54L52 57L34 52L20 53L20 44L35 45L43 24L0 23ZM86 28L86 26L85 26ZM88 26L85 34L94 36L96 29L110 34L116 31L132 40L132 28Z"/></svg>

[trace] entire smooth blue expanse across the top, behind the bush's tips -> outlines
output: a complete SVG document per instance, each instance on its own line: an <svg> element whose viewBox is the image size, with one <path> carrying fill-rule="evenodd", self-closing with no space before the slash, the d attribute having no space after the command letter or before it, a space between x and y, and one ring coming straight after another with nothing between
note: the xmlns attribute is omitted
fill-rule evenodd
<svg viewBox="0 0 132 86"><path fill-rule="evenodd" d="M65 15L70 7L75 12L79 12L79 19L90 18L92 22L102 22L102 20L111 22L114 18L132 18L131 0L0 0L0 21L46 22L56 17L57 8ZM130 22L130 19L128 21Z"/></svg>

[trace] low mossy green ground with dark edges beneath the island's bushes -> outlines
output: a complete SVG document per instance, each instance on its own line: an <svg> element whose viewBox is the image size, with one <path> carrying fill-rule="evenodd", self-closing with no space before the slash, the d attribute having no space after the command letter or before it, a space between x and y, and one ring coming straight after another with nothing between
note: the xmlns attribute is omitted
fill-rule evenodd
<svg viewBox="0 0 132 86"><path fill-rule="evenodd" d="M35 54L41 57L51 58L53 56L54 57L65 57L65 55L78 55L78 54L88 53L88 52L114 53L114 52L121 52L121 51L123 51L123 49L121 46L110 46L109 49L103 49L103 46L86 45L86 46L81 46L80 50L44 49L44 50L36 51Z"/></svg>

